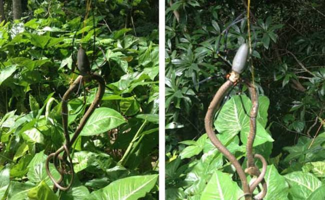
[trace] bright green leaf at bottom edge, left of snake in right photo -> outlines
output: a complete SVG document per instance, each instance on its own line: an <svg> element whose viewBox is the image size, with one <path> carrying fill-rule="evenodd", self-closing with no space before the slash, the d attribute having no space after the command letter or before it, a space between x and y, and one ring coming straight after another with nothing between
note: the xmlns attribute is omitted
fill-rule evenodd
<svg viewBox="0 0 325 200"><path fill-rule="evenodd" d="M237 200L242 195L242 191L231 179L230 174L215 171L211 179L207 182L200 200Z"/></svg>

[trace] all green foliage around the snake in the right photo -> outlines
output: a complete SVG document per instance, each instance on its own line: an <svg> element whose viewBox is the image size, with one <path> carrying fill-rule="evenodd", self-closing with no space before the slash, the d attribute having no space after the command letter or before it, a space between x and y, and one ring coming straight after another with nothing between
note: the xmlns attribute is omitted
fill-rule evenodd
<svg viewBox="0 0 325 200"><path fill-rule="evenodd" d="M207 106L230 71L216 53L217 41L246 12L242 2L166 1L167 199L237 199L242 194L231 163L204 133ZM264 199L324 199L325 3L257 0L250 8L259 93L254 152L268 162ZM243 20L231 26L227 49L221 38L220 54L227 50L230 61L247 42L246 24ZM242 76L251 79L251 72L247 67ZM215 74L219 76L196 84ZM251 104L247 94L245 87L235 87L214 121L217 137L243 168L249 119L242 106L249 110Z"/></svg>

